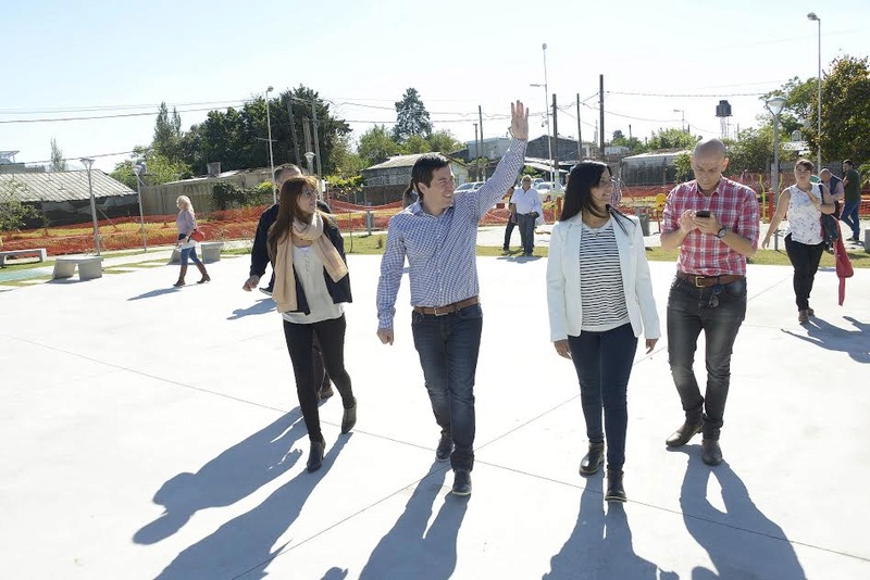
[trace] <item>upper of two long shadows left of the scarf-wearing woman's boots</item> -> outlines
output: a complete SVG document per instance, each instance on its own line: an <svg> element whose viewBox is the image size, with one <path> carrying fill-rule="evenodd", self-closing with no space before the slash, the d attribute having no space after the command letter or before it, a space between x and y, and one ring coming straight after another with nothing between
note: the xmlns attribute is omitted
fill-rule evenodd
<svg viewBox="0 0 870 580"><path fill-rule="evenodd" d="M154 503L165 506L165 510L137 531L133 541L154 544L182 529L200 509L232 505L247 497L296 464L302 452L290 449L307 433L299 414L290 412L224 451L196 474L174 476L154 494Z"/></svg>

